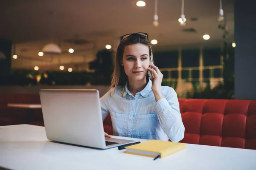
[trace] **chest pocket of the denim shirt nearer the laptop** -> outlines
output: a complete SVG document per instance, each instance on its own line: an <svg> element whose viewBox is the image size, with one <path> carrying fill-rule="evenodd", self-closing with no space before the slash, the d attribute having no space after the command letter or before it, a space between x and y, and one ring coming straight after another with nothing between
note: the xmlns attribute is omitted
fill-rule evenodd
<svg viewBox="0 0 256 170"><path fill-rule="evenodd" d="M128 119L128 115L125 113L111 112L111 121L113 126L113 134L115 136L125 136L125 120Z"/></svg>

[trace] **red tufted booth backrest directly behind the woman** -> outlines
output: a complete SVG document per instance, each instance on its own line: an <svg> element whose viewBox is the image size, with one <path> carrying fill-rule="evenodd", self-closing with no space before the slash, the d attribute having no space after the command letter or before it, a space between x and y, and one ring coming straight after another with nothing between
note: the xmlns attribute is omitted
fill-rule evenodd
<svg viewBox="0 0 256 170"><path fill-rule="evenodd" d="M180 142L256 150L256 101L179 99L185 136ZM112 135L111 117L104 130Z"/></svg>

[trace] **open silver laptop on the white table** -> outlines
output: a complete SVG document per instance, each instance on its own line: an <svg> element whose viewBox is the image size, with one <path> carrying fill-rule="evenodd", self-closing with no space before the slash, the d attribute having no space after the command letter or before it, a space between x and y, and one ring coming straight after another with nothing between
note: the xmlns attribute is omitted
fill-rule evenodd
<svg viewBox="0 0 256 170"><path fill-rule="evenodd" d="M41 89L39 94L47 139L100 149L135 142L105 138L98 90Z"/></svg>

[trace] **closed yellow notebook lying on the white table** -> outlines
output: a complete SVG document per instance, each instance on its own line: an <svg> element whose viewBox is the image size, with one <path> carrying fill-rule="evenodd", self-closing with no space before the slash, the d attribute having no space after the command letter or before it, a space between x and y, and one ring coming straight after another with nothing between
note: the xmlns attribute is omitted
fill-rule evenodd
<svg viewBox="0 0 256 170"><path fill-rule="evenodd" d="M125 147L125 153L130 153L134 155L156 157L160 156L163 158L165 156L176 153L180 150L186 148L186 144L178 142L169 142L161 140L149 140L142 142L140 144L134 144L128 147Z"/></svg>

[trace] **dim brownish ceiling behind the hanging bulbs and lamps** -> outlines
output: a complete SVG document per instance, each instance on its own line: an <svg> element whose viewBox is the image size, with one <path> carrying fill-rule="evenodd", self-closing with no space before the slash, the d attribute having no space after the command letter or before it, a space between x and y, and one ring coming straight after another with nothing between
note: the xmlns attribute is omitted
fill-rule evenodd
<svg viewBox="0 0 256 170"><path fill-rule="evenodd" d="M234 34L233 0L222 1L229 31L228 40L231 42ZM37 54L52 38L53 23L54 41L64 51L63 55L55 57L62 61L58 59L55 64L64 60L91 61L96 51L106 44L116 47L120 35L133 32L147 32L149 39L157 39L155 50L221 43L223 31L218 29L219 0L185 0L184 14L187 22L183 27L177 22L181 14L181 0L158 0L160 25L157 28L152 25L154 0L145 0L145 7L137 7L136 2L137 0L9 0L0 6L0 16L3 16L0 17L0 37L15 42L16 53L27 57L22 63L21 60L17 61L19 58L13 61L14 68L47 65L42 60L49 61L49 56L39 57ZM56 14L55 22L52 11ZM189 20L192 17L198 20L192 22ZM197 32L183 32L182 28L195 28ZM210 40L203 40L204 34L209 34ZM72 44L64 40L72 39L74 35L89 43L73 45L75 53L72 54L72 60L67 53ZM33 60L28 62L28 57Z"/></svg>

